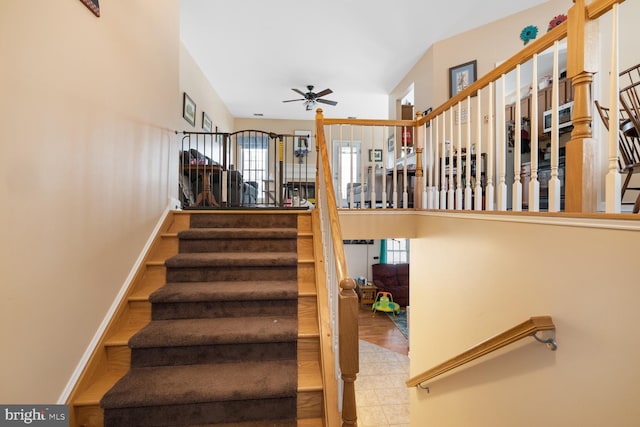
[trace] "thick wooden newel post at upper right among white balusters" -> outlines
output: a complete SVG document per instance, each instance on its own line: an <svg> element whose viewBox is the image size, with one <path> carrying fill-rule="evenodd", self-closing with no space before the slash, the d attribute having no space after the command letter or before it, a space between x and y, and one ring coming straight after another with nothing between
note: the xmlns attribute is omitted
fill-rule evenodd
<svg viewBox="0 0 640 427"><path fill-rule="evenodd" d="M567 77L573 85L573 131L565 150L565 211L596 211L596 141L591 133L591 83L596 70L595 46L589 30L584 0L574 0L567 28Z"/></svg>

